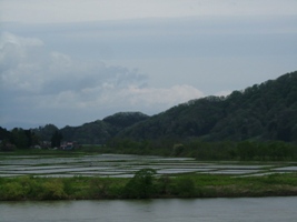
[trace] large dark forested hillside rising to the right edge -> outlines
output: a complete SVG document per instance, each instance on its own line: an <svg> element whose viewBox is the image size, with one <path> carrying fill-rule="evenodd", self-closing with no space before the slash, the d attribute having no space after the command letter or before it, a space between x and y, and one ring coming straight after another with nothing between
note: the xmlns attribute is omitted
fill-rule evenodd
<svg viewBox="0 0 297 222"><path fill-rule="evenodd" d="M226 98L207 97L179 104L118 137L297 141L297 71Z"/></svg>

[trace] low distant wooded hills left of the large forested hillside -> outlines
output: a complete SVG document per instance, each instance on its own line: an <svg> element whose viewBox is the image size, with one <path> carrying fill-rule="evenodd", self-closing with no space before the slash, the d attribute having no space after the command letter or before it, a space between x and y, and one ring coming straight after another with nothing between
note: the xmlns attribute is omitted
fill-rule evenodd
<svg viewBox="0 0 297 222"><path fill-rule="evenodd" d="M34 145L48 147L48 142L51 142L51 147L57 147L61 141L76 141L80 144L103 144L121 130L148 118L141 112L118 112L103 120L96 120L79 127L67 125L62 129L58 129L55 124L46 124L30 130L14 128L11 131L0 127L0 150L3 145L8 147L6 144L24 149ZM4 150L11 149L12 147L4 148Z"/></svg>

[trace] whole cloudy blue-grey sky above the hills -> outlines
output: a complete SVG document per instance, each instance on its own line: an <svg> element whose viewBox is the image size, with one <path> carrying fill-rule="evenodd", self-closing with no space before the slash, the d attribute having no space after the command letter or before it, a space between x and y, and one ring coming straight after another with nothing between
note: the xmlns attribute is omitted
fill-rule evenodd
<svg viewBox="0 0 297 222"><path fill-rule="evenodd" d="M296 0L0 0L7 129L154 115L296 70Z"/></svg>

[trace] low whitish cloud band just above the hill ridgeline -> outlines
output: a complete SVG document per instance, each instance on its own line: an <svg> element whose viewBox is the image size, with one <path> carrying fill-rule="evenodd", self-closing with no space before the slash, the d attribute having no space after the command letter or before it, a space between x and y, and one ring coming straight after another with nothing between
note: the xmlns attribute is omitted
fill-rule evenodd
<svg viewBox="0 0 297 222"><path fill-rule="evenodd" d="M113 109L141 110L143 112L160 112L178 103L204 97L204 93L191 85L174 85L171 88L140 88L126 85L116 89L115 85L103 84L82 91L67 90L52 95L38 95L36 103L39 109ZM27 98L32 99L32 98ZM110 113L111 114L111 113Z"/></svg>

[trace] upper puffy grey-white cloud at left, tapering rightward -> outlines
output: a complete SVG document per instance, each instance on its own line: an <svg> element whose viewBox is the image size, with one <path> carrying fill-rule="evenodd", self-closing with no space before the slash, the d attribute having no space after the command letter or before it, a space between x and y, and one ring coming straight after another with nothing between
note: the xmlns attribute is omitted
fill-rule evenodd
<svg viewBox="0 0 297 222"><path fill-rule="evenodd" d="M57 93L106 82L120 87L146 79L137 70L107 67L101 61L75 60L61 52L47 51L38 39L4 33L0 46L1 83L9 90L29 92L34 89L38 93Z"/></svg>

